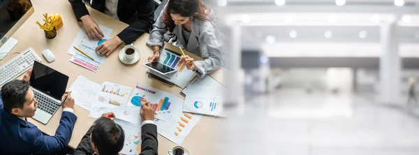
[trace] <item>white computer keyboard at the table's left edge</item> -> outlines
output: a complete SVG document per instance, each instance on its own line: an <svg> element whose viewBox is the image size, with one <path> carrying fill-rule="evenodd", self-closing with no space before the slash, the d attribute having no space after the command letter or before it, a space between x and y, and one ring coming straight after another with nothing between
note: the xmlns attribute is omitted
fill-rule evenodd
<svg viewBox="0 0 419 155"><path fill-rule="evenodd" d="M0 87L3 87L3 84L14 80L16 77L22 75L34 66L34 61L41 62L41 58L38 57L38 54L29 47L24 52L20 53L13 59L6 62L0 66Z"/></svg>

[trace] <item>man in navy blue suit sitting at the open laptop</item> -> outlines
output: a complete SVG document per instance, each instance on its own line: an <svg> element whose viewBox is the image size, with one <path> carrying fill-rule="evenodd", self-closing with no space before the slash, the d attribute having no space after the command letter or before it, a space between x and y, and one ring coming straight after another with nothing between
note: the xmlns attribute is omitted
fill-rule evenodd
<svg viewBox="0 0 419 155"><path fill-rule="evenodd" d="M27 121L27 117L35 115L38 105L29 87L30 73L24 75L24 80L4 84L0 91L0 154L57 154L70 142L77 117L73 114L74 99L68 92L54 136L43 135Z"/></svg>

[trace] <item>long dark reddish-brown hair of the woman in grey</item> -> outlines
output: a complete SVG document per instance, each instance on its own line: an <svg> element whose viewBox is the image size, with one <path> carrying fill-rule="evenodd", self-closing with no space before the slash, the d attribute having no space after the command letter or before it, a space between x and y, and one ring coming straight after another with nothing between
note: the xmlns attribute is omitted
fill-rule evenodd
<svg viewBox="0 0 419 155"><path fill-rule="evenodd" d="M172 32L175 29L175 21L170 17L170 13L179 14L182 17L193 17L198 20L210 20L210 7L201 0L169 0L166 6L166 13L163 14L163 22L166 29Z"/></svg>

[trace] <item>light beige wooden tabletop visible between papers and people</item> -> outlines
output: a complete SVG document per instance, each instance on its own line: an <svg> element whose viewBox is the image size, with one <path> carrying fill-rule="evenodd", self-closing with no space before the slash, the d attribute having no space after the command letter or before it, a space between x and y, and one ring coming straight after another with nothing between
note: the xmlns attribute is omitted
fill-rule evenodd
<svg viewBox="0 0 419 155"><path fill-rule="evenodd" d="M147 62L147 57L152 55L152 50L145 45L147 39L149 38L149 34L140 36L140 38L133 43L133 45L135 45L135 47L137 47L141 52L141 58L138 63L125 65L119 61L118 52L122 49L122 47L124 47L121 45L103 62L98 71L94 73L69 61L72 56L67 54L67 50L71 47L73 40L82 27L82 23L75 19L70 3L67 0L32 0L32 3L35 9L34 14L31 15L31 17L29 17L24 24L22 24L22 27L17 29L15 34L13 34L12 37L16 38L19 43L17 43L16 47L0 61L0 65L5 64L8 60L13 59L13 57L17 55L13 52L22 52L28 47L32 47L38 56L43 60L43 64L46 64L47 66L50 66L51 68L54 68L70 77L67 89L71 86L71 84L73 84L78 75L83 75L84 77L87 77L97 83L101 83L105 80L129 87L135 87L135 84L139 82L140 84L161 89L184 98L179 95L179 92L182 90L181 88L168 87L161 82L147 77L146 68L141 64ZM91 17L97 22L97 24L113 29L111 37L116 36L124 28L128 27L128 24L115 20L114 18L92 8L88 7L88 10ZM64 26L57 31L57 37L54 39L45 38L43 30L39 29L38 25L35 24L36 20L42 21L43 13L59 13L64 21ZM173 47L172 45L166 44L165 47L175 52L179 52L178 48ZM47 48L49 48L56 57L56 60L52 63L48 63L41 53ZM185 54L189 54L194 59L200 59L189 52L185 52ZM219 82L222 82L222 71L217 71L211 74L211 76L214 77L214 79L219 80ZM69 143L69 146L73 148L77 147L84 133L87 132L91 124L94 122L94 119L87 117L87 115L89 115L89 111L84 110L77 105L74 110L78 120L75 123L73 135ZM28 119L28 121L38 126L38 128L44 133L54 135L59 125L61 113L62 108L59 108L59 111L55 113L46 125L41 124L34 119ZM184 140L182 145L189 149L191 154L214 154L212 153L214 150L212 145L216 144L216 141L219 140L217 136L219 135L219 129L217 128L219 123L219 119L214 117L203 117L186 140ZM159 154L167 154L168 149L174 146L175 144L173 142L159 135Z"/></svg>

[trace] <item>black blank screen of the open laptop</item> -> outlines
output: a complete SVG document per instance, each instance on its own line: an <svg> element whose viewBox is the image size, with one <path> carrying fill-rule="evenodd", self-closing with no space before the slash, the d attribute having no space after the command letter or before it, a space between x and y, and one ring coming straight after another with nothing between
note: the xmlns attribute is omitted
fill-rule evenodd
<svg viewBox="0 0 419 155"><path fill-rule="evenodd" d="M30 82L31 87L61 101L61 96L66 92L68 76L35 61Z"/></svg>

